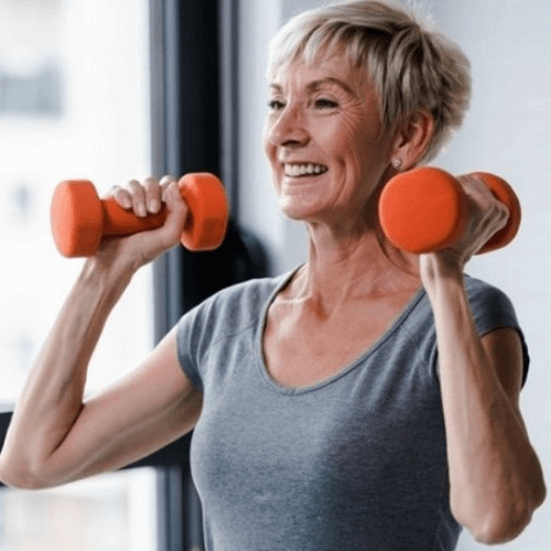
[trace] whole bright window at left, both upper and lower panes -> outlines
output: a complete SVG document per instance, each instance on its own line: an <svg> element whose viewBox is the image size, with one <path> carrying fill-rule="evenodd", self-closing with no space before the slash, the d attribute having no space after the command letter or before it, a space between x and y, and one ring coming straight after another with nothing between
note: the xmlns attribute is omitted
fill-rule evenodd
<svg viewBox="0 0 551 551"><path fill-rule="evenodd" d="M0 403L11 408L83 260L55 248L62 180L105 193L151 172L147 0L0 0ZM152 270L108 322L87 392L153 345ZM45 491L0 491L0 549L151 551L155 472L137 468Z"/></svg>

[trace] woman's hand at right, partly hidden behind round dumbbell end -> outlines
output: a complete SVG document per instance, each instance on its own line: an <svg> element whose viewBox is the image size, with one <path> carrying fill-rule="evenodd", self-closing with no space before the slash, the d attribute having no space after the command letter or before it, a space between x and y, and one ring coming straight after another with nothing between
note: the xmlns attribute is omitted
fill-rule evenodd
<svg viewBox="0 0 551 551"><path fill-rule="evenodd" d="M420 256L422 279L434 260L463 272L473 255L507 224L509 209L479 177L465 174L457 176L457 181L463 186L467 214L463 235L452 247Z"/></svg>

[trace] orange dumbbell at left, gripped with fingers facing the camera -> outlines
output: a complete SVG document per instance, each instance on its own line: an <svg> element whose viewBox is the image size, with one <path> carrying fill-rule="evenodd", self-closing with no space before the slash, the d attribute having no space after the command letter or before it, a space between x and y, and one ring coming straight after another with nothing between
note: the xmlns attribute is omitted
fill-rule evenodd
<svg viewBox="0 0 551 551"><path fill-rule="evenodd" d="M182 176L179 186L190 208L182 245L193 251L217 248L226 235L229 216L223 183L213 174L194 173ZM163 205L159 213L141 218L112 197L100 199L91 182L73 180L56 187L51 214L60 252L65 257L88 257L96 253L104 237L161 227L168 210Z"/></svg>

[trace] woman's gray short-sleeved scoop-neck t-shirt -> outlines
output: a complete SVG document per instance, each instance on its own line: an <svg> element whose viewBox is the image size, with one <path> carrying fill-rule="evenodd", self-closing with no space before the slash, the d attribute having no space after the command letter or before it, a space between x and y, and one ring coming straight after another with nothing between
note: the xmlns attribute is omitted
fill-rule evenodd
<svg viewBox="0 0 551 551"><path fill-rule="evenodd" d="M179 324L182 367L204 393L191 464L206 550L455 549L461 527L450 510L424 291L354 364L290 389L267 371L262 333L293 273L228 288ZM468 277L466 285L480 334L521 334L501 291Z"/></svg>

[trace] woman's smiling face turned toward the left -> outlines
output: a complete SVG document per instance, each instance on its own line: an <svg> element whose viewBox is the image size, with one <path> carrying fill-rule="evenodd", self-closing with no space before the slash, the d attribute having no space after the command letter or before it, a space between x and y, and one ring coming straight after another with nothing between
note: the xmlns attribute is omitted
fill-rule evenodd
<svg viewBox="0 0 551 551"><path fill-rule="evenodd" d="M389 166L377 95L342 55L291 65L270 84L264 151L282 212L329 225L366 220Z"/></svg>

